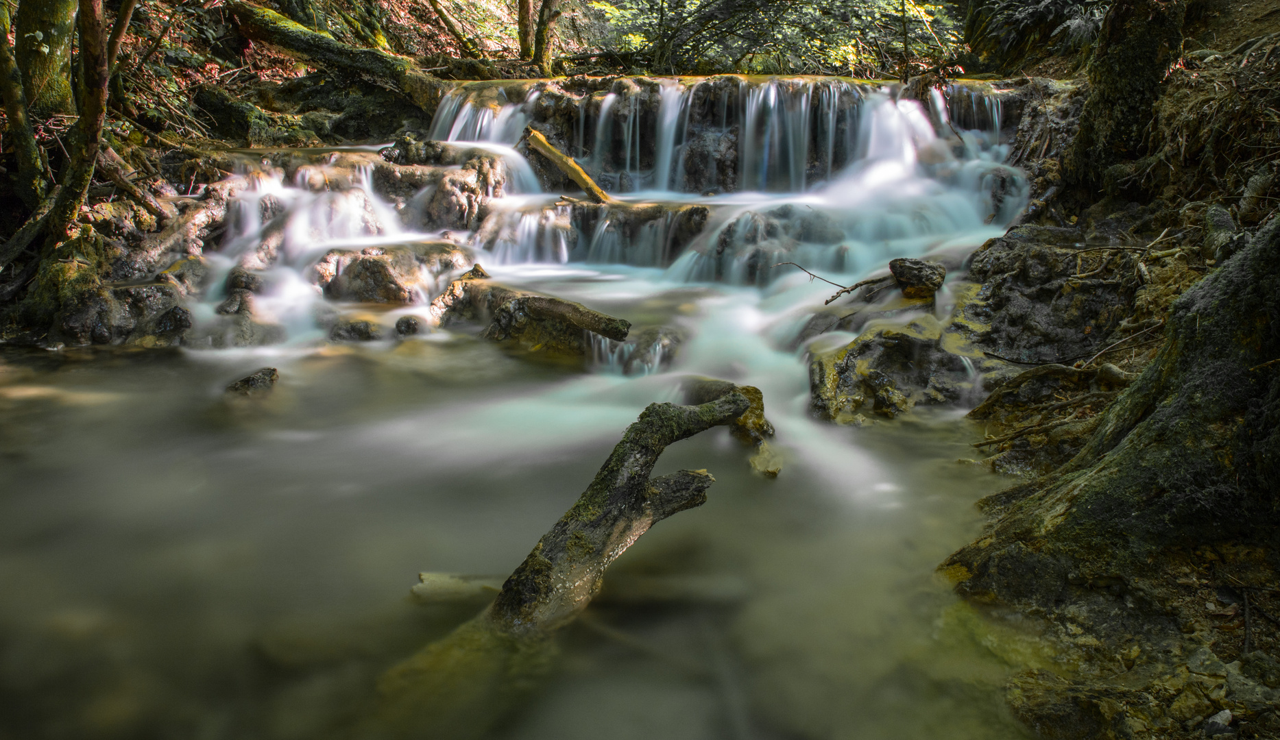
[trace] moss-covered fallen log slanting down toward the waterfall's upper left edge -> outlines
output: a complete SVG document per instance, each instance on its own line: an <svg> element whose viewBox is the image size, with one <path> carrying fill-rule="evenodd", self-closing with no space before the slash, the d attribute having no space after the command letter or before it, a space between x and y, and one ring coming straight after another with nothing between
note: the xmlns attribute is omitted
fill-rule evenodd
<svg viewBox="0 0 1280 740"><path fill-rule="evenodd" d="M317 33L266 8L243 0L227 5L241 33L316 64L388 82L425 111L435 111L452 84L428 74L404 56L360 49Z"/></svg>

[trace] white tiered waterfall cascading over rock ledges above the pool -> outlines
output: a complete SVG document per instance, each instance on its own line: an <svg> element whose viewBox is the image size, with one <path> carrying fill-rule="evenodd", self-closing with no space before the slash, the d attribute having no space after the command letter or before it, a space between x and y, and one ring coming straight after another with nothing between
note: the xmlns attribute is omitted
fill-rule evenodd
<svg viewBox="0 0 1280 740"><path fill-rule="evenodd" d="M317 315L346 310L316 283L316 262L333 250L451 239L470 243L486 269L579 262L608 273L631 265L658 269L645 278L657 284L763 287L799 277L777 266L796 262L852 282L892 257L975 246L1025 201L1024 179L1001 164L1007 146L1000 143L998 102L963 88L933 91L922 105L895 90L832 78L617 81L576 93L534 83L520 100L503 87L471 87L477 84L444 96L430 137L500 155L503 197L485 193L483 224L470 233L433 230L439 227L421 211L435 186L397 213L374 193L367 173L349 189L319 193L262 175L234 206L225 247L212 259L215 284L237 264L265 269L268 289L255 310L303 341L319 334ZM540 193L515 149L530 124L620 204ZM257 256L273 239L278 253ZM340 274L347 261L326 264ZM421 305L444 277L424 273L413 283ZM225 297L211 293L200 309L206 321Z"/></svg>

